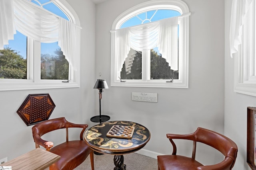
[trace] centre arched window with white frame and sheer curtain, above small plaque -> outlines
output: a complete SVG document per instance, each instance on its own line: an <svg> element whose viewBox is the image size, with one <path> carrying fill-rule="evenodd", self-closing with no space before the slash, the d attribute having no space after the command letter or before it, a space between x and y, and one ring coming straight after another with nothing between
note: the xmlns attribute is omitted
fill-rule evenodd
<svg viewBox="0 0 256 170"><path fill-rule="evenodd" d="M188 6L152 0L112 24L112 86L188 88Z"/></svg>

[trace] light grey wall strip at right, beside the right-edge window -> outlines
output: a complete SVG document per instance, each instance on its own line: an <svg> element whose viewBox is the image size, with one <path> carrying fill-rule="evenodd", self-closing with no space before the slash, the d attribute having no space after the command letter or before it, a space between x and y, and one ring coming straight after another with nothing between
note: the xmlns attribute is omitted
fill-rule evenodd
<svg viewBox="0 0 256 170"><path fill-rule="evenodd" d="M232 0L225 0L225 134L238 145L234 170L250 170L246 163L247 107L256 107L256 98L234 92L234 57L229 53Z"/></svg>

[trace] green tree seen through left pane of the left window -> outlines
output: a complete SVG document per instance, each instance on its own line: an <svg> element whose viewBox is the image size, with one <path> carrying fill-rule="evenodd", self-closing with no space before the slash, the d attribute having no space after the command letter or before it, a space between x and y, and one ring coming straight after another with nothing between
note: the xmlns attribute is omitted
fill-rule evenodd
<svg viewBox="0 0 256 170"><path fill-rule="evenodd" d="M27 60L10 47L0 50L0 78L26 79Z"/></svg>

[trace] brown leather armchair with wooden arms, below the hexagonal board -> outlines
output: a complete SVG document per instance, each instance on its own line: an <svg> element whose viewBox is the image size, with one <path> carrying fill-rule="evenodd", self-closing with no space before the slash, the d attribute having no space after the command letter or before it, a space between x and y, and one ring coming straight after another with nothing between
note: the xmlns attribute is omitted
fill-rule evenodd
<svg viewBox="0 0 256 170"><path fill-rule="evenodd" d="M78 127L83 128L80 133L80 140L69 141L68 140L68 128ZM93 150L83 140L83 133L88 127L86 124L74 124L66 121L64 117L50 119L40 122L32 127L32 133L36 148L40 145L46 150L60 156L58 162L50 166L50 170L72 170L80 165L87 156L90 154L92 170L94 170L94 154ZM45 141L41 137L42 135L54 131L57 129L66 128L66 142L53 147L53 143Z"/></svg>

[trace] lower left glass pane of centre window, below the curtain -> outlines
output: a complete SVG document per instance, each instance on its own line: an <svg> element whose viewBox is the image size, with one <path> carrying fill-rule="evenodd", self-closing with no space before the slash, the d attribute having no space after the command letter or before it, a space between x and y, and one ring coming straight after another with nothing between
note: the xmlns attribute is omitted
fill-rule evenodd
<svg viewBox="0 0 256 170"><path fill-rule="evenodd" d="M124 80L141 80L141 51L130 49L128 57L124 61L122 71L120 73L121 79Z"/></svg>

